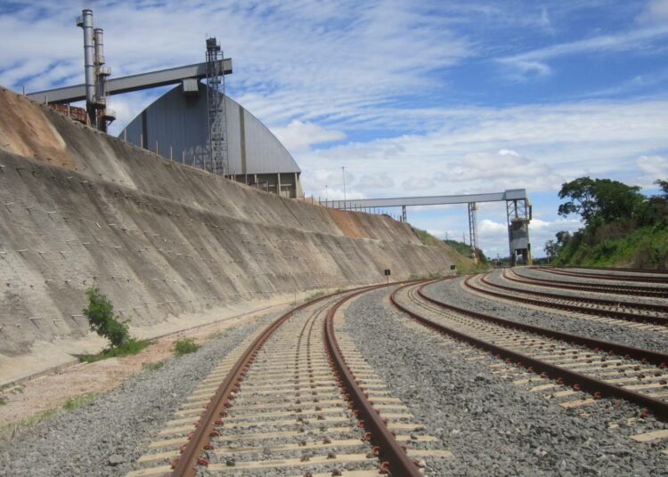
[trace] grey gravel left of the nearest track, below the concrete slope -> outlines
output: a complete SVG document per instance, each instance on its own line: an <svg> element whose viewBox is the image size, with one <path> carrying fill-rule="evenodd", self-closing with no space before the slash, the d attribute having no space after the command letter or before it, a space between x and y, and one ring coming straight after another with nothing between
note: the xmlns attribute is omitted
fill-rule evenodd
<svg viewBox="0 0 668 477"><path fill-rule="evenodd" d="M61 411L28 433L0 445L0 475L125 475L200 380L268 313L228 331L198 352L169 358L157 370L131 377L93 402Z"/></svg>

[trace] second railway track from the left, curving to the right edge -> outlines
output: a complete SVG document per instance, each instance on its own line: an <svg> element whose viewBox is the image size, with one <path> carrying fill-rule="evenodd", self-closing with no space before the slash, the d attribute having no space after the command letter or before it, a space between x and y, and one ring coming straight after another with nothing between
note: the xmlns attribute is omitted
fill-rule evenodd
<svg viewBox="0 0 668 477"><path fill-rule="evenodd" d="M399 287L392 293L391 302L427 327L540 375L546 381L546 389L559 384L573 386L561 396L579 391L591 394L591 398L573 405L601 397L621 398L645 408L643 413L651 411L668 419L668 354L463 310L425 295L426 286Z"/></svg>

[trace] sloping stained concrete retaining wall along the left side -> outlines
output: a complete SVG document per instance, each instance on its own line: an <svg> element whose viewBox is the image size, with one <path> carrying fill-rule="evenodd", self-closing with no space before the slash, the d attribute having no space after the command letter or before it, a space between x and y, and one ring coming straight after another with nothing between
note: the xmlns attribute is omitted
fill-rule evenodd
<svg viewBox="0 0 668 477"><path fill-rule="evenodd" d="M9 357L54 342L67 352L90 336L81 310L92 285L150 330L248 299L379 282L386 268L402 279L452 263L387 217L175 164L4 89L0 110L0 382L3 368L16 374Z"/></svg>

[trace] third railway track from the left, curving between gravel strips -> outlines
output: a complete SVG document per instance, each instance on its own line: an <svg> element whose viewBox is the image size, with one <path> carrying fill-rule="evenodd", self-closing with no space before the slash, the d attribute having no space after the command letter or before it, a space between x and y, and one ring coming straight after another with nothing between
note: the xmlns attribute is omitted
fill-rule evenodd
<svg viewBox="0 0 668 477"><path fill-rule="evenodd" d="M506 287L489 281L486 275L469 276L463 287L480 295L492 296L523 305L552 308L561 311L593 315L604 319L624 320L633 327L668 332L668 306L652 303L631 303L622 300L602 300L598 298L557 295L530 291L516 287ZM631 325L629 325L631 326Z"/></svg>

